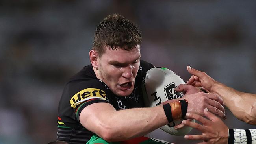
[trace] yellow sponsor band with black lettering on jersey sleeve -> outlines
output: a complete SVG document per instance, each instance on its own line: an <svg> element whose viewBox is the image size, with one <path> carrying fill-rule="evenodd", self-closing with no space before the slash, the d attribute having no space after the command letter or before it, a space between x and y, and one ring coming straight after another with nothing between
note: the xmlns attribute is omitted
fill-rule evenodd
<svg viewBox="0 0 256 144"><path fill-rule="evenodd" d="M80 92L72 96L69 102L71 104L71 107L76 108L76 105L79 105L82 102L95 98L106 100L106 93L100 89L87 88L81 90Z"/></svg>

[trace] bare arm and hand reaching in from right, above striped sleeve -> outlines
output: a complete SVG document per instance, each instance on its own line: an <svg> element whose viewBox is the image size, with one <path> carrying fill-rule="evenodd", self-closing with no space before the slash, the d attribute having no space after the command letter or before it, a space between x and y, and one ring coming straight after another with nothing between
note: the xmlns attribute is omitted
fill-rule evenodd
<svg viewBox="0 0 256 144"><path fill-rule="evenodd" d="M219 95L234 116L248 124L256 125L256 94L239 92L190 66L187 66L187 70L192 74L187 84L204 87L206 91Z"/></svg>

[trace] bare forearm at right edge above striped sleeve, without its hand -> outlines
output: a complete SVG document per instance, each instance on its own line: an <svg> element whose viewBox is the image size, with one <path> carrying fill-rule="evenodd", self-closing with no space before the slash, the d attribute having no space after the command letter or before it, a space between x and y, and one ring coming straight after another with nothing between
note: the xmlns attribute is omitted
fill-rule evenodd
<svg viewBox="0 0 256 144"><path fill-rule="evenodd" d="M256 95L239 92L221 83L215 83L210 92L218 94L224 104L239 120L256 124Z"/></svg>

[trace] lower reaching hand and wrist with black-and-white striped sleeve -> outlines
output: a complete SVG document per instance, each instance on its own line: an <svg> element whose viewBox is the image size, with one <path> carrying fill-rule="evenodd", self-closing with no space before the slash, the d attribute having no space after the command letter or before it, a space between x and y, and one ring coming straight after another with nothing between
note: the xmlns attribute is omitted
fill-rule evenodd
<svg viewBox="0 0 256 144"><path fill-rule="evenodd" d="M202 132L202 135L185 135L187 140L204 140L200 144L255 144L256 129L228 129L220 118L212 114L207 109L204 110L204 118L194 113L187 113L189 118L199 121L199 123L183 120L182 124L193 127Z"/></svg>

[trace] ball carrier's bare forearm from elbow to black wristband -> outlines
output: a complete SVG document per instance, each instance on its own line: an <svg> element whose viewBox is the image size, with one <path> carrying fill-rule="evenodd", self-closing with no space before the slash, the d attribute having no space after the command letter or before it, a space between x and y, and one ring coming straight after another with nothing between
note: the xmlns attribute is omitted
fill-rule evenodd
<svg viewBox="0 0 256 144"><path fill-rule="evenodd" d="M167 123L162 105L116 111L109 119L112 136L116 141L145 135Z"/></svg>

